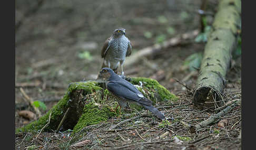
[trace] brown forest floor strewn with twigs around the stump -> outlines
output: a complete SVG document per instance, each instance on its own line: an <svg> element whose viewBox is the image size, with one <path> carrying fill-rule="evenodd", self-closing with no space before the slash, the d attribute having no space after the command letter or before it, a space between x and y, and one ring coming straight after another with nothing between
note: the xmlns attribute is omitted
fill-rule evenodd
<svg viewBox="0 0 256 150"><path fill-rule="evenodd" d="M21 89L34 101L46 104L46 110L40 109L45 114L63 97L69 83L96 78L103 61L101 47L115 28L126 28L127 37L133 44L132 55L155 43L200 28L200 16L195 12L200 3L194 1L166 4L140 1L136 5L127 1L104 2L44 2L26 19L19 15L26 12L25 4L16 6L16 22L22 20L22 25L16 31L15 128L38 119L28 120L19 115L21 110L34 112ZM175 6L171 2L175 2ZM209 1L209 12L214 14L217 4ZM31 3L31 7L34 6ZM126 7L120 9L120 6ZM104 12L106 8L117 15L106 19L112 15ZM95 13L91 13L92 10ZM112 118L87 126L83 138L78 141L83 142L83 146L70 143L72 131L42 132L40 135L38 131L16 134L15 149L241 149L241 105L196 133L183 124L196 125L215 113L194 107L193 93L189 89L194 89L198 71L184 65L186 58L202 53L204 46L205 42L195 42L194 39L179 42L140 58L133 65L124 66L126 76L155 79L179 97L169 106L156 104L166 116L174 118L168 127L159 120L152 120L150 115L136 114L140 117L120 125L116 131L109 128L129 117ZM223 100L241 99L241 56L233 58L226 80ZM218 126L223 120L227 124ZM157 139L164 133L165 137Z"/></svg>

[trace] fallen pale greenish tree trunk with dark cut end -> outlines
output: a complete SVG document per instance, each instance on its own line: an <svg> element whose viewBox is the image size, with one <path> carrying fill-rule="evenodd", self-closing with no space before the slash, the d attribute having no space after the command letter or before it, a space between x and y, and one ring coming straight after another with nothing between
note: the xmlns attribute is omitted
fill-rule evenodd
<svg viewBox="0 0 256 150"><path fill-rule="evenodd" d="M204 49L199 77L194 92L194 104L199 109L221 105L225 75L230 67L231 52L237 46L241 23L241 1L220 1L213 29ZM209 102L209 103L208 103Z"/></svg>

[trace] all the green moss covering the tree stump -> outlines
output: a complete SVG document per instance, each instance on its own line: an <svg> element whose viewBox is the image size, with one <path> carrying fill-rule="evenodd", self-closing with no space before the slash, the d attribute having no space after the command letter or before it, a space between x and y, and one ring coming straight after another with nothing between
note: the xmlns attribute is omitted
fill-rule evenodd
<svg viewBox="0 0 256 150"><path fill-rule="evenodd" d="M131 83L135 85L139 85L140 81L143 82L143 86L137 88L144 94L145 97L152 100L153 103L155 101L164 101L164 100L176 100L178 99L174 94L170 93L166 90L162 85L160 85L156 80L148 79L148 78L132 78ZM110 111L110 106L114 108L117 105L115 97L109 91L104 91L104 98L101 99L101 86L100 83L94 81L88 82L74 82L68 86L67 92L64 97L55 105L53 108L48 111L44 116L40 117L37 121L34 121L24 127L17 128L16 133L19 132L31 132L41 130L43 126L48 122L50 113L51 114L51 122L45 128L47 130L56 130L58 124L60 123L65 111L69 107L70 96L74 91L82 90L82 97L80 98L84 101L88 101L88 103L81 110L82 115L79 118L77 124L74 126L74 132L81 130L81 128L97 124L101 121L106 121L110 117L116 116L116 113ZM159 93L159 94L155 94ZM79 95L77 95L79 97ZM73 97L73 96L72 96ZM99 103L101 106L95 105L95 103ZM130 104L131 108L136 109L137 111L142 110L142 106L136 104ZM119 112L119 111L116 111Z"/></svg>

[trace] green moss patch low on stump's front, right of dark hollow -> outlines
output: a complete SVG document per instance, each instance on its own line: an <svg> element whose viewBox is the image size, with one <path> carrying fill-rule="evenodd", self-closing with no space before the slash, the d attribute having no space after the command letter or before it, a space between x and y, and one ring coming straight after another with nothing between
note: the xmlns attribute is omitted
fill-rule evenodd
<svg viewBox="0 0 256 150"><path fill-rule="evenodd" d="M99 106L94 103L89 103L84 106L84 113L78 120L73 131L75 133L85 126L94 125L101 121L107 121L107 119L113 116L116 116L116 113L111 112L109 107L102 106L102 108L99 108Z"/></svg>

